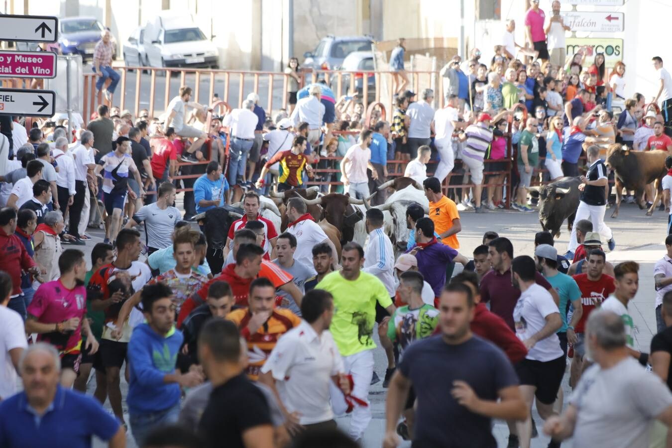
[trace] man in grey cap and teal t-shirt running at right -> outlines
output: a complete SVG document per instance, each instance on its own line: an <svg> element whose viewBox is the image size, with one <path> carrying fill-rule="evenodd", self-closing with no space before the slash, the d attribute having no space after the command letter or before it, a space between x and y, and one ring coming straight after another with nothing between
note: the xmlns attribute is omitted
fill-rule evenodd
<svg viewBox="0 0 672 448"><path fill-rule="evenodd" d="M560 310L560 318L562 318L562 326L557 334L558 339L560 339L560 348L566 355L567 343L577 343L577 334L574 332L574 327L581 320L583 314L581 289L572 277L558 271L558 250L550 244L539 244L534 249L534 261L537 263L537 270L544 275L546 281L560 296L558 309ZM569 325L567 325L567 306L569 302L574 307L574 312Z"/></svg>

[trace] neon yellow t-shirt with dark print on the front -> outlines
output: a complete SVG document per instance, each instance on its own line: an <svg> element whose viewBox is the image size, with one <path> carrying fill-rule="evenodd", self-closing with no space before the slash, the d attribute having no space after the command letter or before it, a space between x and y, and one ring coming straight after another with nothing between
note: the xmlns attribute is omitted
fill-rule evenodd
<svg viewBox="0 0 672 448"><path fill-rule="evenodd" d="M392 305L385 285L370 273L360 272L356 280L346 280L340 272L332 272L315 285L334 297L331 334L341 356L376 348L373 332L376 302L383 308Z"/></svg>

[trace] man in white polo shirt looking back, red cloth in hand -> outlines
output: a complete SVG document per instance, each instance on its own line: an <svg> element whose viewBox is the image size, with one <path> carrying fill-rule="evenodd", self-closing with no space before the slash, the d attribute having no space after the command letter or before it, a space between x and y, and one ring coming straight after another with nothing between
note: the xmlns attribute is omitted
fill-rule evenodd
<svg viewBox="0 0 672 448"><path fill-rule="evenodd" d="M301 323L280 338L261 367L259 382L278 388L286 411L305 429L335 429L330 394L338 393L337 387L349 394L350 383L329 332L333 296L313 289L304 296L301 312Z"/></svg>

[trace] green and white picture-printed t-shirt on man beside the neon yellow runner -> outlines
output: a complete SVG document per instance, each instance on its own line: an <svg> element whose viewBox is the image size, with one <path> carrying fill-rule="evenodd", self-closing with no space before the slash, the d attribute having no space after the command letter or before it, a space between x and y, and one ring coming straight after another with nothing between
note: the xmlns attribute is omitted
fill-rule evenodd
<svg viewBox="0 0 672 448"><path fill-rule="evenodd" d="M425 339L434 332L439 322L439 310L424 304L411 310L409 306L397 308L387 324L387 337L390 341L398 341L399 353L416 339Z"/></svg>

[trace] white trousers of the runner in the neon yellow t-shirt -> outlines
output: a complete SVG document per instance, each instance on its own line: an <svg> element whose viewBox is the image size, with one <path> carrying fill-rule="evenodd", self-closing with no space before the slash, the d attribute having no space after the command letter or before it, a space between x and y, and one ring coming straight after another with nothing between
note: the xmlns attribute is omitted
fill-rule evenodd
<svg viewBox="0 0 672 448"><path fill-rule="evenodd" d="M364 400L369 406L359 406L355 404L355 408L350 413L350 428L347 435L353 440L361 439L364 436L364 431L369 426L371 421L371 404L369 403L369 387L371 386L371 378L374 375L374 352L373 350L360 351L354 355L343 357L343 367L345 373L352 375L352 380L355 383L351 395ZM343 393L336 388L333 382L330 382L331 390L331 407L334 414L342 416L347 410L347 403Z"/></svg>

